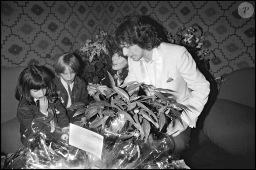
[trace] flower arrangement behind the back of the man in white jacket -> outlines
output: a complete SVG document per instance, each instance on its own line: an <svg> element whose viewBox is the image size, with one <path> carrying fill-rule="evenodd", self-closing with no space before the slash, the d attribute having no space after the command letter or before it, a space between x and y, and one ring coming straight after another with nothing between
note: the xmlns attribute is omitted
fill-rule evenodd
<svg viewBox="0 0 256 170"><path fill-rule="evenodd" d="M214 54L212 50L209 50L201 42L202 39L210 35L209 32L203 32L199 26L191 26L188 30L179 27L176 34L166 32L167 41L173 44L179 44L187 48L188 52L192 55L196 62L196 66L204 74L208 81L215 82L218 90L220 90L221 84L225 81L221 76L214 78L209 73L210 64L207 56Z"/></svg>

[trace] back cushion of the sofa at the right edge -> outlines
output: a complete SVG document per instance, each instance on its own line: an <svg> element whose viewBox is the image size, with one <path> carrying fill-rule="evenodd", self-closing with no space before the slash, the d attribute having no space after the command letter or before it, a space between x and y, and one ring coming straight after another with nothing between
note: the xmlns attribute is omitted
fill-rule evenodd
<svg viewBox="0 0 256 170"><path fill-rule="evenodd" d="M218 99L227 99L255 107L255 68L235 70L224 76Z"/></svg>

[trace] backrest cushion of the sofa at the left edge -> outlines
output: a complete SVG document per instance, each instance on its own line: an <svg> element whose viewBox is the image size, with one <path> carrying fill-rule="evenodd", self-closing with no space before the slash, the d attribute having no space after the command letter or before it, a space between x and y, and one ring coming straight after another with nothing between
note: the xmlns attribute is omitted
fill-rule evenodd
<svg viewBox="0 0 256 170"><path fill-rule="evenodd" d="M15 88L19 74L26 67L1 67L1 123L16 117L19 101L15 99Z"/></svg>

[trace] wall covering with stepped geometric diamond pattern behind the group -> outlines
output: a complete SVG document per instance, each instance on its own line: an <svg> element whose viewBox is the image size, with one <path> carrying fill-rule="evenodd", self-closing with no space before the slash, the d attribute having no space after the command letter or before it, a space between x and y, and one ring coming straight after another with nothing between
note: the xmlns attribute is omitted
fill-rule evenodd
<svg viewBox="0 0 256 170"><path fill-rule="evenodd" d="M64 52L111 33L115 22L130 13L149 16L165 30L198 25L212 35L203 44L214 77L255 67L255 14L241 18L244 1L1 1L1 67L30 64L53 67ZM254 1L247 1L255 8Z"/></svg>

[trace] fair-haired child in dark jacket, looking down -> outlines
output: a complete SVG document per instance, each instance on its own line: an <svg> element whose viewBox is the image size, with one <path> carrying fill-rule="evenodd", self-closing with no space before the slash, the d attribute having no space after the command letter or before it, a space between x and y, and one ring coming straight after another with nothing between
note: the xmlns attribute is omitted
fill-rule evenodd
<svg viewBox="0 0 256 170"><path fill-rule="evenodd" d="M56 85L58 98L68 110L70 122L74 122L75 111L68 108L72 103L81 102L88 104L88 92L85 82L77 76L79 70L79 61L72 53L60 55L54 63L56 78L53 83Z"/></svg>

